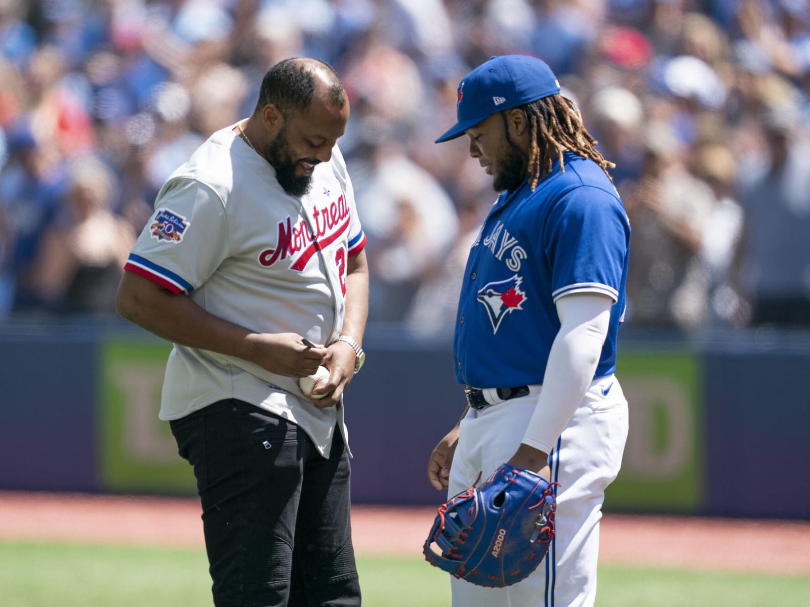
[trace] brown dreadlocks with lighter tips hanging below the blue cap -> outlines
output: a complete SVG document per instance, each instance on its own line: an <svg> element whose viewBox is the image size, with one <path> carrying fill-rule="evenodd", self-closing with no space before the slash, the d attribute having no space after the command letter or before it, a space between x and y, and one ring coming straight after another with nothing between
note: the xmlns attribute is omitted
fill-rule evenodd
<svg viewBox="0 0 810 607"><path fill-rule="evenodd" d="M552 95L522 106L529 125L531 149L529 151L529 174L532 192L537 182L552 172L554 157L560 159L560 170L565 172L563 153L573 152L599 164L608 179L613 181L608 168L616 164L604 159L596 150L598 143L582 124L582 114L572 100L561 95Z"/></svg>

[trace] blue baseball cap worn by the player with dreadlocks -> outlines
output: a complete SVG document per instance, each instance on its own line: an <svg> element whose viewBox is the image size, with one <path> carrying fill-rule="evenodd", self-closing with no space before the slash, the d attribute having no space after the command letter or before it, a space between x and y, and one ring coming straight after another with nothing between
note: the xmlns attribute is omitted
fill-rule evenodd
<svg viewBox="0 0 810 607"><path fill-rule="evenodd" d="M456 117L452 129L436 140L437 143L460 137L495 112L517 108L556 95L560 82L552 69L537 57L501 55L490 57L458 85Z"/></svg>

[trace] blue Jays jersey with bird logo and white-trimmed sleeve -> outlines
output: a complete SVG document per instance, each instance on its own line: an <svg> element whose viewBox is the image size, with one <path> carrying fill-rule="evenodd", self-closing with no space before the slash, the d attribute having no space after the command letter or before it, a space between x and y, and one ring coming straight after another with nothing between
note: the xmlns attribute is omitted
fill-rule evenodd
<svg viewBox="0 0 810 607"><path fill-rule="evenodd" d="M565 153L492 206L467 260L454 337L456 379L476 388L542 384L560 330L556 300L602 293L614 304L595 377L616 369L630 225L616 189L590 159Z"/></svg>

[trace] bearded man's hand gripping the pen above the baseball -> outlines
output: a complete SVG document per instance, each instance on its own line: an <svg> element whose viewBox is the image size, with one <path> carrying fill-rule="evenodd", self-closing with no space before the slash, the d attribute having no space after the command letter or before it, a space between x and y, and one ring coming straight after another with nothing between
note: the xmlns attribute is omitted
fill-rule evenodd
<svg viewBox="0 0 810 607"><path fill-rule="evenodd" d="M311 376L326 358L325 346L308 346L298 333L254 333L248 339L250 361L279 376Z"/></svg>

